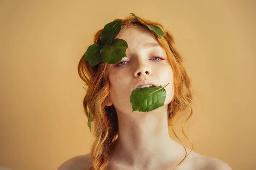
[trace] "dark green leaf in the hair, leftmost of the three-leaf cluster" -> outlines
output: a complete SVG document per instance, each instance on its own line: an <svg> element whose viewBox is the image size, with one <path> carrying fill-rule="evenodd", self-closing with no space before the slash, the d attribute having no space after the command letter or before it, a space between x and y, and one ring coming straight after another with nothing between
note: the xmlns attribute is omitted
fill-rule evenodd
<svg viewBox="0 0 256 170"><path fill-rule="evenodd" d="M102 60L100 56L100 50L102 48L103 46L99 44L90 45L84 54L84 61L89 61L90 66L99 64L99 62Z"/></svg>

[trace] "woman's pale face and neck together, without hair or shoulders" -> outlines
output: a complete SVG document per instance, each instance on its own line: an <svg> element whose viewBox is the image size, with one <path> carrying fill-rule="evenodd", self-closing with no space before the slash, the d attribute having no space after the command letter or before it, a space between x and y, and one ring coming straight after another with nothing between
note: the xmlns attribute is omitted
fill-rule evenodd
<svg viewBox="0 0 256 170"><path fill-rule="evenodd" d="M158 44L145 28L126 28L116 38L125 40L128 48L119 67L107 65L111 84L107 105L115 107L119 122L119 137L111 159L123 167L159 167L177 155L177 142L170 138L167 125L167 108L174 96L172 68L163 48L144 47L145 43ZM131 92L141 80L151 80L163 87L170 83L165 87L163 106L149 112L132 112Z"/></svg>

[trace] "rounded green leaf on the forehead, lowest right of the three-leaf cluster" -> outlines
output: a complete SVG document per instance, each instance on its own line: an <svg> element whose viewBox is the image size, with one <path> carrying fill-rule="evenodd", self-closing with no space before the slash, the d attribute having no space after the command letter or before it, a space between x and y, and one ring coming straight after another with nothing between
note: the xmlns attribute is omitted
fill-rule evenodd
<svg viewBox="0 0 256 170"><path fill-rule="evenodd" d="M103 61L108 64L116 64L123 57L126 57L125 51L127 48L128 44L125 40L114 38L106 42L100 50L100 54Z"/></svg>

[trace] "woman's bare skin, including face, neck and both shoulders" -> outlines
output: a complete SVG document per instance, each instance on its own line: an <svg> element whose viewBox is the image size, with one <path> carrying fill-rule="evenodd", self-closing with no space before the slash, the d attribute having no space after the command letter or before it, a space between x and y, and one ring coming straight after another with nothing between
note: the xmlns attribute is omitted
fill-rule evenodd
<svg viewBox="0 0 256 170"><path fill-rule="evenodd" d="M156 42L144 28L133 26L119 32L116 38L128 43L119 65L108 64L111 88L107 105L116 109L119 136L110 148L110 162L106 170L173 170L185 156L180 143L169 137L167 106L174 96L173 72L161 47L144 48L148 42ZM162 57L160 60L153 57ZM164 105L150 112L132 112L130 96L140 80L151 80L166 90ZM190 149L186 148L187 155ZM91 153L75 156L65 161L58 170L87 170L92 164ZM230 166L216 158L191 152L179 170L231 170Z"/></svg>

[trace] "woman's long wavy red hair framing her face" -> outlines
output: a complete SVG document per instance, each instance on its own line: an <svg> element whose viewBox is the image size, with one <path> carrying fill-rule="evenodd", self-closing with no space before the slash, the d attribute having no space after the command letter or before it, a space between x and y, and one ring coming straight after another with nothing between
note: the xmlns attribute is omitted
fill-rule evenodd
<svg viewBox="0 0 256 170"><path fill-rule="evenodd" d="M174 97L172 101L168 104L168 125L172 126L172 131L177 137L173 129L173 126L176 125L175 120L180 117L186 117L185 114L182 116L181 114L186 113L190 108L191 111L189 112L189 115L187 116L187 119L183 124L184 126L193 113L191 107L191 79L183 66L183 59L177 51L175 40L172 34L166 31L160 23L145 20L140 17L138 18L140 20L137 20L134 16L129 16L123 20L115 19L113 21L122 21L121 29L125 29L134 25L146 28L149 32L151 32L151 34L154 35L160 46L165 49L167 54L167 60L172 67L174 77ZM159 39L156 34L154 34L150 29L145 26L144 22L152 26L160 27L164 32L164 36ZM101 43L99 37L102 31L103 29L96 32L93 43ZM79 77L85 82L85 85L87 86L87 93L84 97L83 102L84 112L88 117L90 109L92 113L92 123L95 123L95 125L93 126L93 135L95 135L96 139L93 142L93 146L91 149L92 164L90 165L89 170L104 170L109 163L110 147L116 141L119 134L116 110L113 105L106 106L108 101L108 94L110 93L110 82L107 74L107 63L101 61L98 65L91 67L88 62L84 61L83 55L79 61L78 73ZM93 96L93 98L91 99L89 108L89 100L91 96ZM186 136L183 131L183 126L182 132ZM186 138L189 140L187 136ZM180 141L178 137L177 139ZM192 143L191 140L189 141ZM184 149L186 151L185 147ZM187 156L185 154L183 160L180 161L176 165L176 167L178 167L186 159Z"/></svg>

